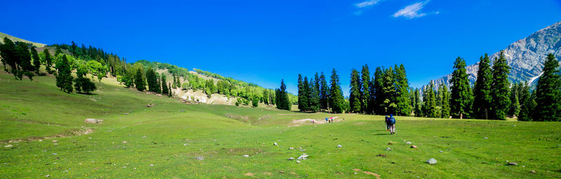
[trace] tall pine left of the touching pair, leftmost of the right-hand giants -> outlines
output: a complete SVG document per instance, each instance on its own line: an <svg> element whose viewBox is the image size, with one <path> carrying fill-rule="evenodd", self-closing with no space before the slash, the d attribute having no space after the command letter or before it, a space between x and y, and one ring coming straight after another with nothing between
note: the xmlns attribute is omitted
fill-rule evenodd
<svg viewBox="0 0 561 179"><path fill-rule="evenodd" d="M450 79L450 83L452 83L450 113L452 113L453 117L463 119L470 113L469 109L471 107L469 105L471 105L471 100L473 99L471 97L473 94L469 86L468 74L466 73L466 61L458 57L454 62L454 69Z"/></svg>

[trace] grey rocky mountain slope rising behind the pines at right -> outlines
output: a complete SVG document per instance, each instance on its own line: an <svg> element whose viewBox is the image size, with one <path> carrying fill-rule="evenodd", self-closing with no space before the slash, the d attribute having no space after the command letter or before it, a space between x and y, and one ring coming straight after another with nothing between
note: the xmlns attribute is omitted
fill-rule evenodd
<svg viewBox="0 0 561 179"><path fill-rule="evenodd" d="M541 76L543 62L549 53L553 53L557 60L561 57L561 22L550 25L534 34L508 45L505 49L505 57L508 66L511 66L511 74L508 79L511 83L528 82L536 83ZM489 56L491 62L499 57L499 52ZM479 64L466 67L468 78L473 84L477 78ZM452 74L448 74L436 81L436 84L445 83L450 86Z"/></svg>

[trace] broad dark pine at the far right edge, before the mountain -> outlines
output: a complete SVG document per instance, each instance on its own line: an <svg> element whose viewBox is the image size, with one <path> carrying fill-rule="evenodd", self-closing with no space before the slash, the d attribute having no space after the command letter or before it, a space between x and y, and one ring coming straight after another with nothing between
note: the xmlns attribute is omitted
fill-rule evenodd
<svg viewBox="0 0 561 179"><path fill-rule="evenodd" d="M536 87L535 121L561 121L561 76L559 62L553 54L548 54L543 63L543 75Z"/></svg>

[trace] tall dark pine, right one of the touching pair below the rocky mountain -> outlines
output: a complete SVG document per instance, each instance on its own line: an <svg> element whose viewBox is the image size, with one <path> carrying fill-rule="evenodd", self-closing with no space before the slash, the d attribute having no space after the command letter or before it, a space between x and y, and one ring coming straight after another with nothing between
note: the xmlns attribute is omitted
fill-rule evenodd
<svg viewBox="0 0 561 179"><path fill-rule="evenodd" d="M508 106L511 100L508 99L508 92L511 84L508 82L508 69L511 67L506 64L506 57L501 50L499 58L495 58L492 67L493 83L491 85L491 96L493 96L492 104L492 119L505 120L506 113L508 113Z"/></svg>

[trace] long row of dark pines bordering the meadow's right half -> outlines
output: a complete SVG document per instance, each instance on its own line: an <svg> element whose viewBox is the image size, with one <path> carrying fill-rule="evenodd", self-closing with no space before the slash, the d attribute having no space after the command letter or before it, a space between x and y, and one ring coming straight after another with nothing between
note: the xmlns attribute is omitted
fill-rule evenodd
<svg viewBox="0 0 561 179"><path fill-rule="evenodd" d="M554 55L548 55L536 90L527 83L511 84L509 73L503 51L492 63L485 54L480 57L477 80L471 85L466 62L458 57L450 90L445 84L435 85L433 80L414 89L409 86L403 64L377 67L373 76L365 64L361 71L351 70L348 99L342 95L335 69L329 86L323 73L313 78L299 74L297 104L302 112L561 121L561 77Z"/></svg>

